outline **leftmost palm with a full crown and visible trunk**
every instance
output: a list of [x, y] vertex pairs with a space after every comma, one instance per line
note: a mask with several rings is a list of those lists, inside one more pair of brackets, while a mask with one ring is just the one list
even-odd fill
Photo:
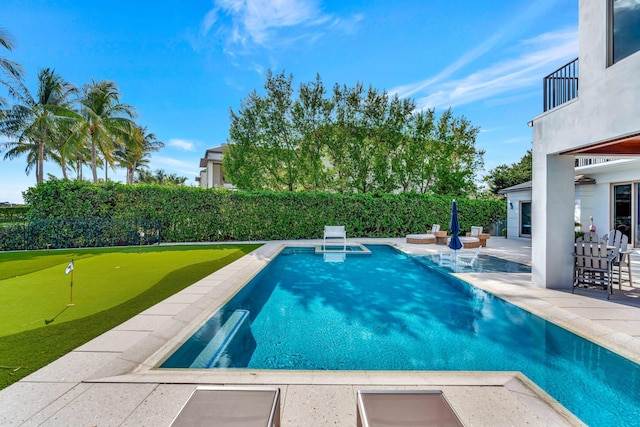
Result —
[[70, 96], [75, 87], [55, 71], [46, 68], [38, 74], [38, 91], [33, 96], [21, 80], [16, 79], [9, 89], [16, 103], [0, 117], [0, 133], [9, 136], [3, 144], [4, 159], [27, 154], [27, 174], [34, 166], [36, 182], [44, 180], [45, 159], [55, 160], [51, 141], [56, 137], [57, 125], [74, 121], [78, 114], [71, 110]]

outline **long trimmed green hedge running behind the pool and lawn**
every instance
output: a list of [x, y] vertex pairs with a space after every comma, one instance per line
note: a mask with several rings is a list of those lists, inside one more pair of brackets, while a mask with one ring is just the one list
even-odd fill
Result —
[[[398, 237], [447, 228], [451, 198], [415, 193], [240, 192], [193, 187], [50, 180], [25, 193], [29, 220], [160, 220], [163, 242], [322, 237], [324, 225], [349, 237]], [[488, 229], [506, 218], [499, 200], [458, 199], [460, 226]]]

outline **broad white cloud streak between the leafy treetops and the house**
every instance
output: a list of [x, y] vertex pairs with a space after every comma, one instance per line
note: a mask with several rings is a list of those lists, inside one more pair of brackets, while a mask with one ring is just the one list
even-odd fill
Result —
[[524, 40], [521, 45], [519, 51], [524, 53], [520, 56], [504, 59], [467, 76], [442, 81], [442, 76], [449, 74], [449, 68], [465, 61], [461, 59], [434, 78], [394, 91], [404, 96], [417, 94], [417, 106], [423, 109], [448, 108], [530, 89], [558, 65], [577, 56], [577, 28], [541, 34]]

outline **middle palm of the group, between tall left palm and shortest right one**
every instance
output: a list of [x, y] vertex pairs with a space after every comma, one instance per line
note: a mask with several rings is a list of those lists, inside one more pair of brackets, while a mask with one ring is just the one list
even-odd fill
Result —
[[83, 120], [79, 134], [90, 141], [91, 172], [93, 182], [98, 182], [98, 151], [105, 169], [114, 164], [114, 141], [131, 131], [135, 110], [120, 102], [118, 88], [107, 80], [85, 85], [80, 105]]

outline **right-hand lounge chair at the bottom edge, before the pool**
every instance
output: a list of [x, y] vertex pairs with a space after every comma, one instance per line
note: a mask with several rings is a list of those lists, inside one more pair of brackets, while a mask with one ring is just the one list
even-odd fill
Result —
[[358, 390], [357, 426], [463, 424], [441, 390]]

